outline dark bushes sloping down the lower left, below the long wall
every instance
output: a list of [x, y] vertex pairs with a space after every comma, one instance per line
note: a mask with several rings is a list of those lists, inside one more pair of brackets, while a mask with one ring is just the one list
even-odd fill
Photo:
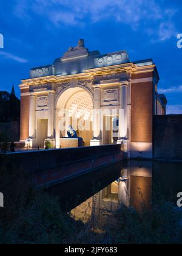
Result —
[[0, 211], [0, 244], [54, 244], [68, 240], [67, 236], [73, 235], [73, 219], [62, 213], [58, 199], [34, 188], [29, 175], [16, 163], [8, 162], [5, 155], [1, 160], [4, 208]]

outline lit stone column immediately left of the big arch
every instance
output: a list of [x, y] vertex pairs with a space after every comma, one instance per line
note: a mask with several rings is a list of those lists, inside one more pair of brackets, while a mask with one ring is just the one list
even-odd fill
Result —
[[55, 112], [55, 94], [49, 93], [49, 113], [48, 113], [48, 131], [47, 137], [54, 138], [54, 112]]

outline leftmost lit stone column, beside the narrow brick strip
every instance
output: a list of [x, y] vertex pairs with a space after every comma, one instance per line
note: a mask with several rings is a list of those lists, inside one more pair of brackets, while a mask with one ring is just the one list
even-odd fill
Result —
[[36, 96], [30, 95], [30, 118], [29, 118], [29, 138], [35, 138], [35, 111], [36, 111]]

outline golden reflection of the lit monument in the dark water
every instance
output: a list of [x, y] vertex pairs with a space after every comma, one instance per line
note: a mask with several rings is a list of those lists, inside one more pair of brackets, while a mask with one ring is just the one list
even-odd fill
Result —
[[72, 210], [76, 220], [89, 221], [94, 216], [100, 224], [107, 221], [110, 212], [120, 204], [140, 211], [152, 203], [152, 162], [131, 161], [121, 170], [121, 177]]

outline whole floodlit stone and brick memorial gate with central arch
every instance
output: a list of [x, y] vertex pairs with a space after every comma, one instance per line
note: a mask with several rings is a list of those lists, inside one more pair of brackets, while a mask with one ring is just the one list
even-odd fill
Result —
[[[53, 65], [33, 68], [22, 80], [21, 140], [35, 147], [48, 139], [59, 148], [71, 123], [86, 146], [122, 143], [129, 157], [152, 157], [153, 115], [166, 110], [158, 80], [153, 60], [130, 62], [126, 51], [101, 55], [79, 40]], [[64, 129], [63, 109], [70, 117]], [[90, 129], [79, 127], [83, 113], [82, 126]]]

